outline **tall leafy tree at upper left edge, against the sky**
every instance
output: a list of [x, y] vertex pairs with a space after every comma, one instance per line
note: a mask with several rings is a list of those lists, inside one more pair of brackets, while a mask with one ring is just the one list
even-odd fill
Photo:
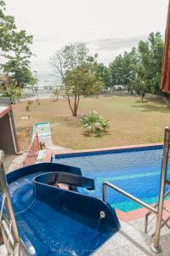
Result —
[[3, 73], [9, 76], [14, 86], [26, 86], [36, 84], [30, 69], [30, 46], [32, 36], [25, 30], [17, 31], [14, 17], [5, 14], [5, 3], [0, 1], [0, 49], [5, 63], [0, 64]]

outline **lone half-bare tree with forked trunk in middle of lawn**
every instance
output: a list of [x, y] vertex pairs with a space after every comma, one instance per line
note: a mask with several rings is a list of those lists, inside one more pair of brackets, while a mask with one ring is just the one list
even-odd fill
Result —
[[98, 94], [104, 86], [95, 73], [96, 58], [97, 55], [88, 55], [88, 48], [84, 44], [70, 44], [58, 50], [50, 59], [54, 73], [62, 79], [73, 116], [77, 116], [81, 96]]

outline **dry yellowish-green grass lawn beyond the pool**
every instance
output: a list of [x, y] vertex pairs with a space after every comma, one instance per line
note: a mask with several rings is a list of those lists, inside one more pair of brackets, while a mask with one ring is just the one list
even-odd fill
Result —
[[[85, 137], [81, 118], [90, 110], [96, 110], [110, 119], [110, 129], [103, 137]], [[20, 119], [24, 116], [30, 119]], [[54, 102], [42, 100], [31, 105], [26, 112], [26, 102], [14, 106], [14, 119], [18, 131], [31, 128], [36, 122], [50, 122], [54, 144], [65, 148], [104, 148], [130, 144], [160, 143], [163, 129], [170, 125], [170, 109], [161, 98], [137, 96], [99, 96], [81, 99], [78, 117], [71, 117], [65, 99]]]

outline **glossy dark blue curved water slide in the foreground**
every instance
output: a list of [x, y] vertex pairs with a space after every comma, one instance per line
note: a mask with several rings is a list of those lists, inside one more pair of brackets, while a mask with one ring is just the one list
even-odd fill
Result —
[[7, 180], [19, 234], [31, 255], [91, 255], [119, 230], [114, 209], [78, 192], [94, 189], [94, 180], [77, 167], [42, 163], [10, 172]]

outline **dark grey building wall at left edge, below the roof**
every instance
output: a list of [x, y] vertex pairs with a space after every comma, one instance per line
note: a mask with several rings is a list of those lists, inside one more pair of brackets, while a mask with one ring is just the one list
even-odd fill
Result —
[[14, 154], [14, 143], [8, 114], [0, 119], [0, 149], [3, 149], [5, 154]]

